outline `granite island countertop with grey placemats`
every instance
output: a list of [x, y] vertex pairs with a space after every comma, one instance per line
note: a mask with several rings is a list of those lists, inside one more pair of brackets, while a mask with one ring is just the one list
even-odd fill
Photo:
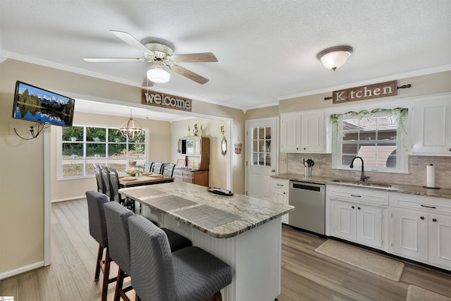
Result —
[[216, 195], [204, 186], [183, 182], [123, 188], [119, 192], [215, 238], [236, 236], [295, 208], [237, 193]]

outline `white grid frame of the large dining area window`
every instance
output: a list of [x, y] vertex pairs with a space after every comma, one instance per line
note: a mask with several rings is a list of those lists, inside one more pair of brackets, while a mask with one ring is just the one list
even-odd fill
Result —
[[[108, 134], [109, 130], [118, 130], [119, 128], [117, 126], [109, 126], [109, 125], [87, 125], [87, 124], [74, 124], [73, 127], [82, 127], [83, 128], [83, 141], [78, 141], [78, 143], [83, 144], [83, 158], [78, 159], [80, 162], [82, 161], [84, 164], [83, 168], [83, 175], [82, 176], [70, 176], [70, 177], [64, 177], [63, 176], [63, 127], [57, 127], [56, 128], [56, 180], [76, 180], [76, 179], [82, 179], [82, 178], [94, 178], [95, 174], [87, 175], [86, 174], [86, 166], [87, 164], [90, 164], [89, 159], [86, 157], [86, 147], [87, 144], [92, 143], [91, 141], [86, 140], [86, 130], [87, 128], [105, 128], [106, 129], [106, 138], [105, 138], [105, 145], [106, 145], [106, 154], [105, 154], [105, 164], [108, 166], [109, 160], [113, 161], [114, 159], [110, 156], [108, 156], [108, 145], [109, 143], [117, 143], [117, 142], [109, 142], [108, 141]], [[149, 141], [149, 129], [148, 128], [142, 128], [142, 130], [145, 131], [144, 135], [144, 161], [149, 158], [149, 147], [148, 147], [148, 141]], [[125, 142], [126, 149], [127, 149], [127, 155], [125, 156], [125, 161], [128, 162], [129, 159], [134, 159], [135, 157], [129, 157], [128, 156], [128, 149], [129, 145], [134, 145], [136, 142], [130, 142], [126, 140]], [[142, 142], [140, 142], [141, 144]]]

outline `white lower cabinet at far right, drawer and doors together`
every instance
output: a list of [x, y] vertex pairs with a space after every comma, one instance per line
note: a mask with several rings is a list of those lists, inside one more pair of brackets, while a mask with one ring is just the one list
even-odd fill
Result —
[[393, 254], [451, 268], [451, 201], [394, 195]]

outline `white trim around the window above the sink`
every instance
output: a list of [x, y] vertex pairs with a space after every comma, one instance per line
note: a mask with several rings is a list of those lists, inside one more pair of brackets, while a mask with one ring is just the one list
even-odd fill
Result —
[[[409, 110], [410, 113], [410, 110]], [[340, 117], [341, 124], [342, 117]], [[407, 119], [404, 121], [404, 130], [409, 122], [409, 115], [407, 115]], [[377, 168], [377, 167], [369, 167], [366, 166], [365, 171], [378, 172], [378, 173], [409, 173], [409, 149], [407, 147], [408, 139], [407, 134], [404, 133], [404, 130], [397, 130], [397, 142], [396, 142], [396, 168]], [[337, 129], [332, 130], [332, 168], [341, 169], [347, 171], [354, 171], [355, 168], [350, 168], [348, 165], [342, 165], [341, 162], [341, 140], [338, 137], [342, 136], [342, 127], [338, 127]]]

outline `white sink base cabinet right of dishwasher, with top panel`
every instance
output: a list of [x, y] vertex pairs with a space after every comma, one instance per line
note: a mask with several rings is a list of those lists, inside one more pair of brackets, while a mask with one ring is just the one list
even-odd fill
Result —
[[326, 185], [326, 199], [326, 235], [385, 250], [383, 235], [387, 226], [383, 223], [383, 214], [388, 207], [386, 192]]

